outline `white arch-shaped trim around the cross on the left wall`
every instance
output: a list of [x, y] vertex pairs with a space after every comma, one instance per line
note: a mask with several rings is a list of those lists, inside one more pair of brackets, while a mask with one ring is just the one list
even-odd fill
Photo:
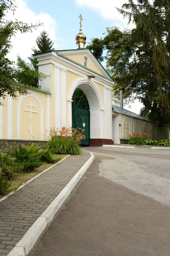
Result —
[[23, 99], [25, 99], [26, 97], [32, 97], [34, 99], [37, 100], [39, 106], [40, 106], [40, 129], [41, 129], [41, 140], [44, 139], [44, 134], [43, 134], [43, 117], [44, 117], [44, 111], [43, 111], [43, 106], [42, 103], [40, 101], [40, 99], [37, 97], [37, 95], [35, 95], [34, 93], [28, 93], [27, 95], [23, 95], [20, 97], [19, 101], [18, 101], [18, 105], [17, 105], [17, 140], [20, 140], [20, 108], [21, 108], [21, 103], [23, 102]]

